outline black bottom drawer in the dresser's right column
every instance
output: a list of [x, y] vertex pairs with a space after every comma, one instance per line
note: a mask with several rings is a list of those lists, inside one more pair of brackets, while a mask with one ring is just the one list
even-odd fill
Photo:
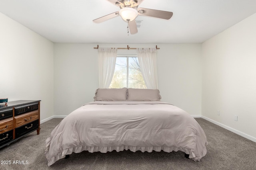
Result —
[[15, 129], [15, 138], [21, 137], [38, 129], [38, 119]]

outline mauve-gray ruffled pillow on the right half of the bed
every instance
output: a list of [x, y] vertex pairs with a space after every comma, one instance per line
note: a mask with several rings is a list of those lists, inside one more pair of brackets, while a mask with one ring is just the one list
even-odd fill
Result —
[[160, 101], [158, 89], [128, 88], [128, 99], [133, 101]]

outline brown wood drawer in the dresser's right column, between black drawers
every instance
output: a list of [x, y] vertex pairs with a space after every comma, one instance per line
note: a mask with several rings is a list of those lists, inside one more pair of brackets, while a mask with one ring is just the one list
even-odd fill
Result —
[[38, 110], [31, 111], [29, 113], [25, 113], [23, 115], [19, 115], [14, 117], [15, 121], [15, 127], [20, 127], [22, 125], [25, 125], [27, 123], [30, 123], [36, 119], [38, 119]]

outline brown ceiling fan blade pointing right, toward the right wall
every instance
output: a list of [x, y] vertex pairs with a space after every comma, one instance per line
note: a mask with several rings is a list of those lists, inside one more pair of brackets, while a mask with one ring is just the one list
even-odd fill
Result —
[[162, 18], [164, 20], [169, 20], [173, 13], [168, 11], [152, 10], [148, 8], [139, 8], [138, 14], [141, 16], [150, 16], [154, 18]]

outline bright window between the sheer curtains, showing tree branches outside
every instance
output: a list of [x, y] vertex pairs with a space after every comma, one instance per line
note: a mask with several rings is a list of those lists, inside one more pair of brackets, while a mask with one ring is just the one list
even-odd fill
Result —
[[109, 88], [146, 88], [138, 57], [118, 56]]

